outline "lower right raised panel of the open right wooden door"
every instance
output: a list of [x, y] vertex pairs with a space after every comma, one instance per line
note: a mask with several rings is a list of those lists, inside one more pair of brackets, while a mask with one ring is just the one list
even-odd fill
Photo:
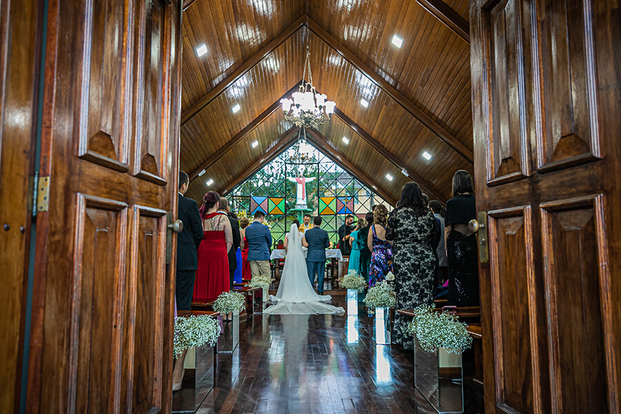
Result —
[[[553, 413], [618, 405], [604, 195], [540, 205]], [[587, 358], [584, 355], [588, 355]]]

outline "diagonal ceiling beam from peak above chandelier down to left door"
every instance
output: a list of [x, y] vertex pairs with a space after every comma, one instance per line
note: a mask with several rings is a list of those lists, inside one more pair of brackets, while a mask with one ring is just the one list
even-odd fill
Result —
[[235, 69], [233, 73], [228, 75], [224, 81], [218, 83], [214, 88], [210, 89], [205, 95], [199, 98], [198, 101], [190, 105], [184, 112], [181, 112], [181, 125], [185, 124], [191, 117], [196, 115], [201, 109], [208, 106], [208, 104], [216, 99], [222, 92], [224, 92], [229, 86], [233, 85], [240, 77], [244, 76], [248, 70], [257, 65], [260, 61], [265, 59], [271, 52], [273, 52], [278, 46], [286, 41], [293, 33], [297, 32], [299, 28], [306, 23], [306, 14], [302, 14], [296, 21], [291, 23], [288, 28], [280, 32], [274, 39], [270, 40], [265, 46], [263, 46], [258, 52], [249, 57], [242, 66]]

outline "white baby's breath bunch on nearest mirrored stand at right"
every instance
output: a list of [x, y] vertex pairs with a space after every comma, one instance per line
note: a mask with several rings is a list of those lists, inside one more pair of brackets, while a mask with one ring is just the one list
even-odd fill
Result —
[[438, 312], [433, 306], [418, 306], [414, 319], [403, 329], [407, 335], [416, 335], [420, 347], [426, 352], [443, 348], [449, 353], [460, 354], [472, 346], [468, 326], [457, 315]]

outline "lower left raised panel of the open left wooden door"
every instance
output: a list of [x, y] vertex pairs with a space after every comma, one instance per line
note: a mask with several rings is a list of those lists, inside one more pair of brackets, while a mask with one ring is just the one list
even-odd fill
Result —
[[68, 411], [118, 412], [127, 208], [78, 194], [68, 354]]

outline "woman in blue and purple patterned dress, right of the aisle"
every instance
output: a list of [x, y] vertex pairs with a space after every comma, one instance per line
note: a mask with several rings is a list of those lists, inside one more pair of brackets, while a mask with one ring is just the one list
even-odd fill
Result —
[[393, 271], [393, 242], [386, 240], [388, 210], [384, 204], [375, 207], [373, 226], [366, 237], [366, 244], [371, 250], [368, 285], [375, 286]]

